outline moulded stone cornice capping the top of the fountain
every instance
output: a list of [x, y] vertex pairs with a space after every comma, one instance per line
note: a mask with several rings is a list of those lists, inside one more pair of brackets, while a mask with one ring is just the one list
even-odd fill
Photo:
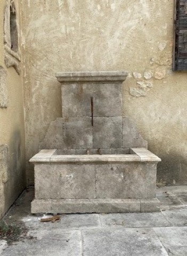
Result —
[[61, 84], [122, 83], [125, 81], [127, 76], [127, 71], [77, 71], [55, 73], [55, 77]]

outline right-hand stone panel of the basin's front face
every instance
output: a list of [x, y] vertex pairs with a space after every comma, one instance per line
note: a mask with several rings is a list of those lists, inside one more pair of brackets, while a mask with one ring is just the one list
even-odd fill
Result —
[[153, 198], [156, 193], [156, 165], [97, 165], [97, 198]]

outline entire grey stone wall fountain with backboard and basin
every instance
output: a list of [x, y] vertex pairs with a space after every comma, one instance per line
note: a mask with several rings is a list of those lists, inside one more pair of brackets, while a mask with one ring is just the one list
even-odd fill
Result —
[[122, 116], [126, 72], [57, 73], [62, 118], [48, 127], [35, 170], [32, 213], [159, 211], [157, 163]]

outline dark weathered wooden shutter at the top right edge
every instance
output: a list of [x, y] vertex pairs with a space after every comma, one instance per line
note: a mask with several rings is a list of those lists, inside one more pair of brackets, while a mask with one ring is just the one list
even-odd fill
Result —
[[176, 0], [173, 70], [187, 70], [187, 0]]

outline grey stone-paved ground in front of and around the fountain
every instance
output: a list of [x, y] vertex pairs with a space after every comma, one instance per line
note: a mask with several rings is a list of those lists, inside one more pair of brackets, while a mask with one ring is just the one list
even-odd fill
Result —
[[32, 197], [29, 188], [5, 216], [25, 223], [28, 238], [0, 241], [0, 255], [187, 256], [187, 186], [159, 188], [158, 213], [68, 214], [56, 223], [30, 214]]

